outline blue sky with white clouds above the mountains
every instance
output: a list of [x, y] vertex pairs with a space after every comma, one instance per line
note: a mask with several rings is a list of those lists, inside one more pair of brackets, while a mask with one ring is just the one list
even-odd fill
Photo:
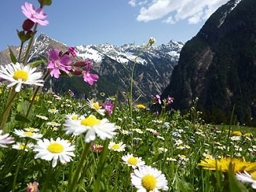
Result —
[[[19, 46], [16, 29], [26, 19], [21, 5], [36, 0], [1, 2], [0, 50], [8, 45]], [[206, 19], [227, 0], [53, 0], [46, 6], [48, 26], [39, 26], [46, 33], [68, 46], [82, 44], [125, 43], [140, 45], [154, 37], [157, 44], [171, 39], [185, 43], [202, 27]]]

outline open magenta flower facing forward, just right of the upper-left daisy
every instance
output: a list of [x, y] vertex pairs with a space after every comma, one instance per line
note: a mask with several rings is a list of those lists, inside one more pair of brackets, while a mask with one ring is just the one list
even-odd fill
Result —
[[61, 71], [64, 71], [66, 74], [69, 73], [69, 70], [72, 67], [69, 65], [71, 63], [71, 59], [67, 54], [61, 56], [60, 50], [52, 49], [47, 52], [50, 60], [47, 63], [47, 69], [50, 69], [50, 76], [58, 78], [60, 77]]

